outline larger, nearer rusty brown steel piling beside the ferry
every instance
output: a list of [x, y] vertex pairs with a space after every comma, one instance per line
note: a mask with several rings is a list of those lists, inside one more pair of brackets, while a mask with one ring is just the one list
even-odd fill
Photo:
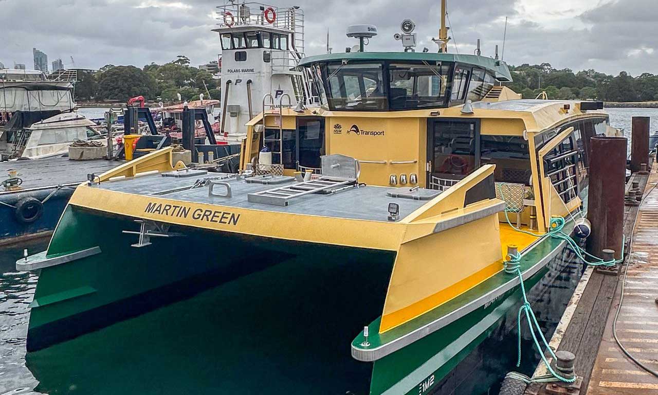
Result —
[[[618, 251], [616, 259], [620, 259], [624, 238], [628, 140], [620, 137], [593, 137], [590, 142], [592, 155], [587, 217], [592, 223], [592, 235], [587, 240], [587, 250], [600, 257], [603, 249], [611, 248]], [[635, 201], [634, 194], [632, 197]]]

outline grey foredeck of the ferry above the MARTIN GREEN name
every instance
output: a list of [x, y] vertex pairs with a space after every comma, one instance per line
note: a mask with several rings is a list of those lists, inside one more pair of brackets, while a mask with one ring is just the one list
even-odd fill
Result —
[[[212, 178], [220, 175], [221, 173], [208, 173], [199, 177], [174, 178], [153, 174], [130, 180], [103, 182], [93, 188], [148, 196], [175, 188], [190, 187], [195, 183], [197, 178]], [[225, 207], [320, 215], [324, 217], [364, 219], [368, 221], [388, 221], [388, 203], [394, 202], [399, 204], [400, 218], [406, 217], [415, 209], [427, 203], [427, 201], [386, 196], [386, 192], [397, 188], [362, 186], [361, 188], [351, 188], [332, 195], [308, 194], [291, 199], [288, 207], [282, 207], [265, 203], [251, 203], [247, 201], [247, 194], [290, 185], [293, 182], [278, 185], [248, 184], [244, 180], [238, 181], [235, 179], [222, 180], [222, 182], [228, 182], [231, 185], [232, 198], [208, 196], [208, 187], [172, 192], [164, 195], [158, 194], [153, 197], [195, 203], [209, 203]], [[224, 190], [225, 188], [222, 186], [215, 187], [215, 193], [223, 193]]]

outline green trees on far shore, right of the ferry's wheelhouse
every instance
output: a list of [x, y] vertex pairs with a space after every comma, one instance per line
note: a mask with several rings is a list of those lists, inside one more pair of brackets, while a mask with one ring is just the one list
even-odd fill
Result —
[[511, 66], [513, 82], [505, 84], [524, 99], [546, 92], [549, 99], [600, 101], [658, 100], [658, 76], [645, 72], [633, 77], [622, 71], [611, 76], [596, 70], [574, 73], [570, 68], [557, 70], [550, 63]]

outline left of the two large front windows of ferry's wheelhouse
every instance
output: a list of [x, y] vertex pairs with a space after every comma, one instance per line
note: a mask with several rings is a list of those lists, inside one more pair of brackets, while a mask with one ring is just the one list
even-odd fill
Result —
[[332, 110], [378, 111], [388, 109], [386, 84], [379, 63], [328, 65]]

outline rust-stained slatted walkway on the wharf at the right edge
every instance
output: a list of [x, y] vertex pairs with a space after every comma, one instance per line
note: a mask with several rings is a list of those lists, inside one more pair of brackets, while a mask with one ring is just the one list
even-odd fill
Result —
[[[647, 367], [658, 369], [658, 166], [654, 166], [645, 188], [633, 234], [628, 261], [624, 302], [617, 321], [617, 337], [626, 350]], [[616, 279], [616, 277], [613, 277]], [[613, 338], [613, 319], [619, 305], [623, 276], [619, 276], [615, 300], [607, 316], [603, 340], [598, 348], [588, 395], [658, 395], [658, 378], [635, 365]], [[594, 347], [594, 349], [596, 349]], [[583, 392], [583, 390], [581, 390]]]

